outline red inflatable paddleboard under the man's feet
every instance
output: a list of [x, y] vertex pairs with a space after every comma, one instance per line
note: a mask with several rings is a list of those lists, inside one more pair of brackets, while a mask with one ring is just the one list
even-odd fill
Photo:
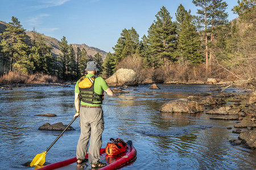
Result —
[[[105, 153], [105, 148], [101, 148], [100, 150], [100, 162], [106, 163], [106, 167], [102, 167], [100, 169], [117, 169], [120, 168], [126, 164], [129, 164], [130, 162], [133, 162], [137, 158], [137, 151], [133, 146], [133, 142], [127, 141], [127, 148], [126, 152], [123, 152], [122, 154], [119, 154], [117, 156], [109, 156]], [[88, 154], [86, 154], [85, 158], [88, 158]], [[46, 165], [42, 168], [39, 168], [39, 170], [49, 170], [49, 169], [77, 169], [77, 159], [76, 157], [63, 160], [61, 162], [52, 163], [49, 165]], [[80, 165], [81, 166], [81, 165]], [[92, 168], [89, 163], [82, 164], [82, 169], [96, 169]], [[99, 168], [97, 168], [99, 169]]]

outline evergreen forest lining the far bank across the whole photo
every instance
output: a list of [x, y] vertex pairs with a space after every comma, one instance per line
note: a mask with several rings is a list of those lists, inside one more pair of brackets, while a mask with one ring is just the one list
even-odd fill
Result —
[[132, 28], [121, 31], [113, 53], [88, 56], [85, 49], [74, 49], [65, 36], [61, 53], [37, 33], [26, 30], [14, 16], [0, 34], [0, 60], [4, 74], [46, 74], [73, 81], [84, 75], [88, 61], [96, 61], [101, 76], [108, 78], [120, 68], [133, 69], [139, 82], [172, 83], [216, 78], [225, 81], [256, 78], [256, 7], [254, 0], [238, 0], [232, 11], [238, 18], [228, 21], [227, 4], [222, 0], [192, 0], [197, 15], [183, 5], [171, 16], [167, 7], [159, 9], [147, 35]]

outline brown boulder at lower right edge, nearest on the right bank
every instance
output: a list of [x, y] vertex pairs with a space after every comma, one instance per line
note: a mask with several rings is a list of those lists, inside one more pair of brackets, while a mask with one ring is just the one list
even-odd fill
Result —
[[243, 131], [238, 139], [241, 139], [242, 143], [245, 143], [252, 150], [256, 149], [256, 129]]

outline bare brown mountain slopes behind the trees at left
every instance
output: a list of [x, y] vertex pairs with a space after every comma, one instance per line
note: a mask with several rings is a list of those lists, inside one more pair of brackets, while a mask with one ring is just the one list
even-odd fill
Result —
[[[6, 24], [7, 23], [2, 22], [0, 20], [0, 33], [5, 31]], [[28, 37], [32, 37], [32, 32], [31, 31], [26, 31], [26, 34], [27, 34]], [[60, 41], [53, 38], [53, 37], [49, 37], [49, 36], [43, 35], [41, 33], [39, 33], [39, 34], [43, 36], [47, 45], [52, 46], [51, 51], [52, 51], [53, 55], [54, 56], [59, 56], [59, 54], [61, 53], [60, 49], [59, 49]], [[73, 46], [75, 52], [77, 51], [77, 47], [79, 47], [80, 49], [84, 48], [86, 50], [88, 56], [94, 56], [95, 54], [100, 53], [103, 60], [106, 58], [106, 55], [108, 54], [104, 50], [95, 48], [93, 46], [88, 46], [86, 44], [72, 44], [72, 46]]]

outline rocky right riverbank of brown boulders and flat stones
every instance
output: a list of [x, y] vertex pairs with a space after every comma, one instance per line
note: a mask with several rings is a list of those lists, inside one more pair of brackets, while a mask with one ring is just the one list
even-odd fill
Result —
[[199, 94], [169, 101], [159, 109], [160, 112], [188, 114], [203, 110], [206, 114], [214, 115], [210, 117], [212, 120], [236, 121], [233, 127], [227, 127], [235, 129], [232, 133], [240, 134], [238, 139], [230, 139], [232, 145], [256, 149], [256, 92], [240, 95], [225, 92], [218, 95]]

